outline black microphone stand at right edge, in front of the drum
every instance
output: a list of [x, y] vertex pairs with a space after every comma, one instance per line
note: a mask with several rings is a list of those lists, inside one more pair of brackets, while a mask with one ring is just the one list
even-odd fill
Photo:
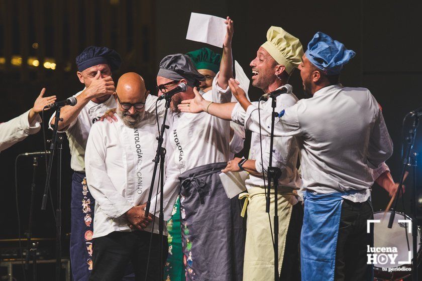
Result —
[[[407, 139], [407, 150], [406, 150], [406, 157], [403, 159], [403, 168], [401, 170], [400, 175], [400, 183], [398, 185], [398, 189], [396, 191], [396, 197], [394, 199], [394, 208], [391, 211], [390, 219], [388, 221], [388, 228], [391, 228], [393, 226], [394, 222], [394, 216], [397, 208], [397, 202], [400, 195], [402, 195], [402, 185], [404, 180], [404, 174], [407, 171], [407, 169], [412, 166], [413, 167], [413, 190], [412, 190], [412, 196], [411, 196], [411, 209], [413, 211], [412, 217], [411, 217], [411, 223], [412, 223], [412, 270], [411, 270], [411, 276], [412, 281], [417, 281], [417, 208], [416, 208], [416, 153], [411, 153], [414, 146], [414, 141], [416, 138], [416, 131], [417, 127], [419, 125], [419, 114], [418, 112], [413, 113], [410, 112], [409, 114], [413, 115], [413, 123], [411, 126], [411, 129], [409, 130], [409, 136]], [[408, 114], [408, 115], [409, 115]], [[406, 115], [404, 118], [406, 118], [408, 115]], [[403, 196], [403, 195], [402, 195]], [[406, 232], [407, 235], [407, 232]]]

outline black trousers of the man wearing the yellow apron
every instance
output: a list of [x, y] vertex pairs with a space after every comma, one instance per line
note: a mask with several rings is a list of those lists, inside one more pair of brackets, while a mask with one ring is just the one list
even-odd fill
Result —
[[283, 264], [281, 265], [280, 281], [300, 281], [300, 231], [303, 222], [303, 206], [298, 202], [293, 206], [287, 229], [286, 246], [284, 248]]

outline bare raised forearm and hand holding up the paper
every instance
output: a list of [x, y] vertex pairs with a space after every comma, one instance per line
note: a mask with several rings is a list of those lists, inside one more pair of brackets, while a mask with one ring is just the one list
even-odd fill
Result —
[[233, 78], [233, 56], [232, 56], [232, 38], [233, 38], [233, 21], [227, 17], [226, 37], [223, 43], [223, 57], [220, 63], [220, 75], [218, 77], [218, 85], [226, 89], [229, 85], [229, 79]]

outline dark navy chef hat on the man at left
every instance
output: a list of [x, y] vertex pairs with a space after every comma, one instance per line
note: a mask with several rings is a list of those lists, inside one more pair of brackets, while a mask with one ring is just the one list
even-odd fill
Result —
[[79, 71], [98, 64], [108, 64], [112, 71], [116, 71], [122, 64], [122, 59], [115, 50], [97, 46], [89, 46], [76, 57], [76, 65]]

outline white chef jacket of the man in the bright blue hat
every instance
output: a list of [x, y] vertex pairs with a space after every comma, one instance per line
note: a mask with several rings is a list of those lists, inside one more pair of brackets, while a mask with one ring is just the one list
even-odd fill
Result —
[[[258, 132], [258, 110], [246, 110], [246, 128]], [[262, 132], [270, 134], [271, 113], [261, 111]], [[342, 196], [366, 201], [373, 184], [372, 169], [393, 150], [378, 102], [366, 88], [331, 85], [286, 108], [276, 118], [275, 135], [297, 136], [302, 186], [316, 194], [352, 192]], [[357, 192], [357, 193], [355, 193]]]

